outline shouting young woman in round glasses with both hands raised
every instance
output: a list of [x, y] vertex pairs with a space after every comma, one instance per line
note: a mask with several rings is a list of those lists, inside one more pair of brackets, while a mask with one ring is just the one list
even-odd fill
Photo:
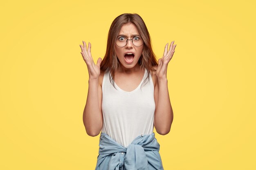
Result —
[[153, 129], [166, 135], [173, 122], [166, 77], [173, 43], [157, 63], [146, 24], [124, 13], [110, 26], [103, 60], [94, 64], [90, 42], [80, 45], [89, 72], [83, 123], [88, 135], [101, 132], [95, 170], [163, 170]]

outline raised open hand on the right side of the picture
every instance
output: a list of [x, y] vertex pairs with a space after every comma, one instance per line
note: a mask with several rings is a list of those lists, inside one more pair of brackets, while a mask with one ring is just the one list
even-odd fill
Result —
[[168, 43], [165, 45], [164, 48], [164, 55], [162, 58], [160, 58], [158, 60], [158, 66], [157, 66], [157, 71], [156, 71], [156, 75], [158, 77], [158, 79], [162, 79], [162, 78], [167, 78], [166, 73], [167, 73], [167, 66], [168, 63], [170, 62], [171, 58], [173, 57], [173, 53], [175, 52], [175, 47], [177, 44], [173, 45], [174, 41], [171, 42], [169, 51], [168, 50]]

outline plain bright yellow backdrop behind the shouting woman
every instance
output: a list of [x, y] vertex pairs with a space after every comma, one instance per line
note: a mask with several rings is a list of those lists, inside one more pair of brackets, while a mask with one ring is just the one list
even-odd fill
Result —
[[88, 70], [122, 13], [138, 13], [168, 64], [174, 119], [156, 133], [165, 170], [256, 169], [253, 0], [1, 1], [0, 169], [94, 170], [99, 135], [83, 125]]

